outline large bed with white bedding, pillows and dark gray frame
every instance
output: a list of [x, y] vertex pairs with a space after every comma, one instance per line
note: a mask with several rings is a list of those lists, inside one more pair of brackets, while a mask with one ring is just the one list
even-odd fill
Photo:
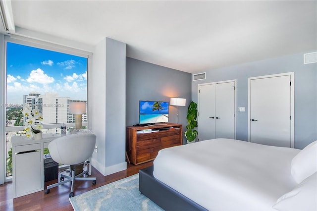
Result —
[[140, 171], [140, 191], [164, 210], [317, 210], [316, 153], [317, 141], [304, 150], [233, 139], [166, 148], [153, 172]]

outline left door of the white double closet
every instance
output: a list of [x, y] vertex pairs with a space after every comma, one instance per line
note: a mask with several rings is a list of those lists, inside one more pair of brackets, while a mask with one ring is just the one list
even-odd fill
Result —
[[198, 99], [198, 137], [199, 141], [214, 139], [215, 105], [214, 105], [215, 84], [202, 85], [199, 87]]

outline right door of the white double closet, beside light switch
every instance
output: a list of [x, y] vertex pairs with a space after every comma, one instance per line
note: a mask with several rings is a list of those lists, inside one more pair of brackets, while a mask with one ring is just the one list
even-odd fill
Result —
[[234, 89], [234, 82], [215, 85], [215, 138], [235, 138]]

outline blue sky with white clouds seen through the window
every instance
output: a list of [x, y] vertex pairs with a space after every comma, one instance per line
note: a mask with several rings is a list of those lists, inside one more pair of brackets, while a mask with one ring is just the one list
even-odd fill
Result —
[[87, 100], [87, 58], [7, 43], [6, 59], [7, 104], [30, 92]]

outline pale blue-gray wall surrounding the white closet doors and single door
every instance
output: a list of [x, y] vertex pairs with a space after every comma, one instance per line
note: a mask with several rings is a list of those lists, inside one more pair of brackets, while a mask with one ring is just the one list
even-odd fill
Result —
[[317, 65], [303, 64], [303, 53], [255, 61], [207, 71], [207, 79], [192, 83], [192, 99], [197, 102], [198, 84], [237, 79], [237, 139], [248, 140], [248, 77], [294, 72], [295, 148], [303, 149], [317, 140]]

